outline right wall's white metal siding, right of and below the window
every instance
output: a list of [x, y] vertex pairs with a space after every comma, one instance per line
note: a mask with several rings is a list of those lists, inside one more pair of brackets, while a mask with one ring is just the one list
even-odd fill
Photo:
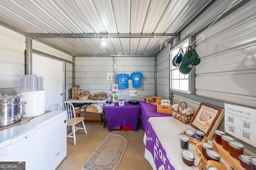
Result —
[[[255, 9], [254, 1], [246, 3], [212, 25], [204, 33], [207, 37], [205, 43], [202, 37], [196, 41], [196, 51], [201, 57], [201, 63], [195, 70], [196, 95], [255, 108]], [[195, 24], [198, 23], [191, 25]], [[190, 25], [186, 32], [192, 32]], [[186, 101], [192, 108], [197, 108], [200, 104], [198, 101], [186, 100], [177, 95], [174, 95], [173, 99], [175, 103]], [[224, 119], [218, 129], [224, 131]], [[255, 147], [246, 143], [244, 145], [245, 152], [255, 155]]]

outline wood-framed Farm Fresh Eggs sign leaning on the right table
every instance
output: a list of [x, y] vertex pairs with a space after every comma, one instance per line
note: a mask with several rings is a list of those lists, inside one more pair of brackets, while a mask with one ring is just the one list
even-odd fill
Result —
[[189, 124], [194, 129], [204, 132], [205, 137], [211, 140], [223, 117], [223, 108], [201, 103]]

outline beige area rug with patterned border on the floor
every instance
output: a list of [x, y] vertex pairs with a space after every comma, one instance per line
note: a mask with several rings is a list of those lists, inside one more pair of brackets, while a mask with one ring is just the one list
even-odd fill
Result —
[[121, 135], [109, 134], [82, 166], [82, 170], [114, 170], [127, 146]]

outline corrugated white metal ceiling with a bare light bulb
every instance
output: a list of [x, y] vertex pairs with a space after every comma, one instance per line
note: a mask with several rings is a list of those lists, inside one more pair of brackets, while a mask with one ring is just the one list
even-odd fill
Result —
[[[154, 34], [170, 41], [212, 2], [1, 0], [0, 24], [69, 55], [155, 55], [160, 40]], [[106, 46], [101, 45], [102, 35]]]

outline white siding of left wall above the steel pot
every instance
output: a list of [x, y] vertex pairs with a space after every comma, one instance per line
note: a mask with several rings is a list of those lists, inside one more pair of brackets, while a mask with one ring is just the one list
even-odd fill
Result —
[[0, 93], [20, 93], [20, 75], [25, 73], [25, 37], [0, 26]]

